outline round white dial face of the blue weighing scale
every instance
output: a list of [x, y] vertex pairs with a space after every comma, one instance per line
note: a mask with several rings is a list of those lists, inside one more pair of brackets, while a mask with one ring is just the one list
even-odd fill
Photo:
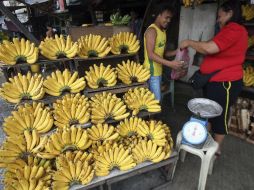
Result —
[[206, 127], [196, 121], [185, 123], [182, 132], [184, 139], [191, 144], [201, 144], [207, 137]]

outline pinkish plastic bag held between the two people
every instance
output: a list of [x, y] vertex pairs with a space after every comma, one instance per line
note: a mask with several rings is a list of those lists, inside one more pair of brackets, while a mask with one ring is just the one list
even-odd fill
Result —
[[187, 48], [185, 49], [178, 49], [176, 52], [176, 61], [182, 61], [183, 67], [179, 70], [172, 70], [171, 71], [171, 79], [177, 80], [179, 78], [182, 78], [187, 75], [188, 73], [188, 68], [189, 68], [189, 62], [190, 62], [190, 57], [189, 57], [189, 51]]

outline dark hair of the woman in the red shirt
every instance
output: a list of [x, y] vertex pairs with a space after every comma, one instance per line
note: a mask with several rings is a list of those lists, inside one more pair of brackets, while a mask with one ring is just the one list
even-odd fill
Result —
[[241, 12], [241, 5], [239, 3], [239, 1], [234, 1], [234, 0], [230, 0], [230, 1], [226, 1], [225, 3], [223, 3], [220, 6], [221, 10], [224, 12], [229, 12], [232, 11], [233, 15], [231, 17], [231, 19], [227, 22], [236, 22], [241, 24], [242, 21], [242, 12]]

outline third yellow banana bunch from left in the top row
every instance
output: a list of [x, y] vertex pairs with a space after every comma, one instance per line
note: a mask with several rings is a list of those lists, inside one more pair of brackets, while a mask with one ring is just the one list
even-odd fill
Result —
[[100, 35], [89, 34], [78, 39], [79, 57], [105, 57], [111, 50], [108, 40]]

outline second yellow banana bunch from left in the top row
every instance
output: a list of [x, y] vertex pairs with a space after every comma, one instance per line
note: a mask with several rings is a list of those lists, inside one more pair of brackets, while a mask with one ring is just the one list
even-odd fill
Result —
[[39, 46], [41, 54], [50, 59], [56, 60], [61, 57], [73, 58], [78, 53], [78, 43], [73, 42], [68, 35], [55, 35], [55, 38], [46, 38]]

